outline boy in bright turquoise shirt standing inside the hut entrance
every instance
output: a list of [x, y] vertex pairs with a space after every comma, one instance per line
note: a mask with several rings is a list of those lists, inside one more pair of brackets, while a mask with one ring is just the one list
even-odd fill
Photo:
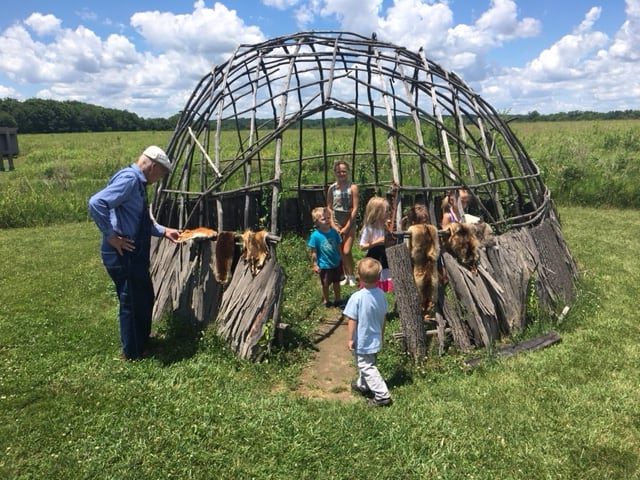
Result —
[[[332, 307], [340, 303], [340, 278], [342, 263], [340, 260], [340, 234], [329, 223], [325, 207], [314, 208], [311, 217], [316, 228], [311, 233], [307, 246], [311, 249], [313, 271], [320, 276], [322, 285], [322, 303]], [[334, 302], [329, 301], [329, 285], [333, 285]]]

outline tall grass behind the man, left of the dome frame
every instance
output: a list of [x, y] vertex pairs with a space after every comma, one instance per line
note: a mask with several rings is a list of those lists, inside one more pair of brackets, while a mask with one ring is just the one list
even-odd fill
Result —
[[88, 218], [87, 200], [144, 146], [166, 145], [170, 132], [19, 135], [15, 170], [0, 172], [0, 228]]

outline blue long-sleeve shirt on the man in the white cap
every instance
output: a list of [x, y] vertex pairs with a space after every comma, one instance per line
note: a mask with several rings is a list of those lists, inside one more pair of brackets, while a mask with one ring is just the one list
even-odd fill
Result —
[[[107, 186], [89, 199], [89, 215], [105, 238], [113, 234], [134, 239], [147, 208], [147, 179], [135, 163], [116, 173]], [[165, 228], [154, 223], [151, 235], [162, 237]]]

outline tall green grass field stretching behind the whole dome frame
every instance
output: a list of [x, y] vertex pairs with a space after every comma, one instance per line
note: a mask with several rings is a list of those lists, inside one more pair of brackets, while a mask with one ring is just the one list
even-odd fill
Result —
[[[539, 165], [556, 200], [640, 208], [640, 121], [516, 122], [512, 127]], [[234, 135], [222, 132], [223, 158], [237, 153], [224, 150], [237, 144]], [[300, 154], [296, 135], [285, 134], [285, 158], [296, 159]], [[328, 149], [350, 151], [352, 135], [350, 128], [331, 131]], [[16, 169], [0, 172], [0, 228], [86, 220], [86, 202], [93, 192], [118, 169], [132, 163], [146, 145], [164, 146], [170, 137], [171, 132], [20, 135]], [[304, 155], [320, 155], [321, 131], [306, 131], [304, 138]], [[378, 139], [379, 151], [384, 151], [385, 140], [384, 136]], [[364, 129], [358, 133], [358, 142], [370, 142]], [[265, 155], [272, 148], [267, 148]], [[380, 178], [390, 178], [389, 168], [381, 166]], [[297, 182], [295, 171], [293, 165], [284, 168], [283, 184], [288, 188]], [[417, 166], [415, 175], [405, 181], [417, 182]], [[324, 167], [320, 161], [311, 163], [301, 177], [303, 183], [322, 183]], [[354, 178], [359, 182], [374, 180], [373, 167], [366, 159], [359, 159]]]

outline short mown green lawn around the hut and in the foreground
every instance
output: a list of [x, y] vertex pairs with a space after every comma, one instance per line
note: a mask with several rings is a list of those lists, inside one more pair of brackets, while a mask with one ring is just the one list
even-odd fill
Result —
[[95, 227], [0, 230], [0, 478], [638, 479], [640, 212], [561, 214], [585, 277], [562, 343], [466, 372], [388, 338], [379, 410], [295, 395], [319, 298], [301, 239], [279, 247], [294, 348], [250, 364], [168, 319], [164, 354], [123, 363]]

